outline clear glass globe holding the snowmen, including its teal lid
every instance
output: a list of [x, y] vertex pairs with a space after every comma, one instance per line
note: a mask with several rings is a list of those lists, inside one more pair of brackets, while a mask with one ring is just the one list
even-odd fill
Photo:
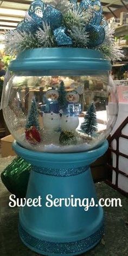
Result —
[[10, 65], [13, 74], [4, 86], [3, 114], [24, 148], [88, 151], [104, 142], [116, 122], [110, 63], [94, 50], [69, 50], [28, 50]]

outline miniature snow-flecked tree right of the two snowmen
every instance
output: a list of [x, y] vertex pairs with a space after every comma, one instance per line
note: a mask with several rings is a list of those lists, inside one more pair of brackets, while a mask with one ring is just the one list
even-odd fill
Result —
[[88, 136], [92, 136], [94, 132], [97, 132], [97, 116], [94, 103], [89, 105], [85, 120], [80, 127]]

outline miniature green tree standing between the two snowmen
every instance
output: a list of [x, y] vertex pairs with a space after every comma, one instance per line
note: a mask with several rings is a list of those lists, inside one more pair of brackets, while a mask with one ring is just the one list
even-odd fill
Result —
[[67, 99], [66, 99], [66, 90], [65, 90], [65, 84], [63, 83], [63, 81], [61, 81], [60, 83], [60, 87], [59, 87], [59, 98], [58, 98], [58, 103], [59, 103], [59, 109], [63, 110], [63, 112], [66, 111], [67, 108]]

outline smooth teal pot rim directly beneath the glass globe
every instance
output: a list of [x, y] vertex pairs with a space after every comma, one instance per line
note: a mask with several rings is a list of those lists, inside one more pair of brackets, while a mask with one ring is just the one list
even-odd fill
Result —
[[78, 168], [87, 166], [97, 160], [108, 149], [108, 141], [105, 140], [102, 145], [91, 151], [78, 153], [44, 153], [31, 151], [23, 148], [16, 141], [13, 146], [15, 152], [23, 157], [28, 163], [43, 168]]

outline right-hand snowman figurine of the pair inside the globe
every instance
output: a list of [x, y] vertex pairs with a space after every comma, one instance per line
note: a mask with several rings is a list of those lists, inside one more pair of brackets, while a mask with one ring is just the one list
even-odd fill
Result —
[[74, 130], [79, 126], [79, 114], [81, 104], [79, 103], [79, 93], [70, 91], [67, 93], [67, 113], [61, 117], [61, 130]]

